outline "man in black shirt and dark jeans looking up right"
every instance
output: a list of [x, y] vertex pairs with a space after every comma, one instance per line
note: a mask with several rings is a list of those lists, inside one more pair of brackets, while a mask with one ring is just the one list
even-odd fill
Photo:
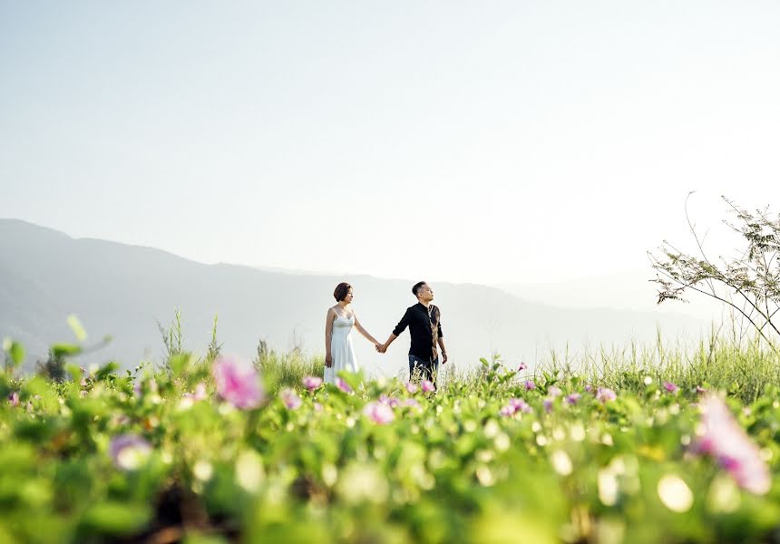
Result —
[[409, 347], [409, 375], [422, 376], [435, 384], [439, 369], [439, 349], [442, 350], [442, 364], [447, 362], [447, 349], [444, 347], [442, 333], [442, 313], [437, 306], [431, 304], [434, 300], [434, 289], [424, 281], [414, 284], [412, 293], [417, 297], [417, 304], [406, 309], [406, 313], [395, 325], [393, 334], [385, 344], [377, 345], [376, 351], [384, 354], [393, 344], [395, 338], [409, 327], [412, 345]]

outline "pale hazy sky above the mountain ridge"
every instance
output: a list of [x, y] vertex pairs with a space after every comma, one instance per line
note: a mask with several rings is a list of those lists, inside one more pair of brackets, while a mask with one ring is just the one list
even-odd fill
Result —
[[780, 210], [780, 3], [0, 0], [0, 217], [478, 283]]

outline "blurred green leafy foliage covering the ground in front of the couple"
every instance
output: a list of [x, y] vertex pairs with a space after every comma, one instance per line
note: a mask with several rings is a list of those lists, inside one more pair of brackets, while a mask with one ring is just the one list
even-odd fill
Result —
[[[736, 349], [690, 355], [692, 370], [668, 351], [658, 368], [602, 352], [580, 374], [493, 357], [440, 376], [437, 393], [350, 374], [354, 393], [308, 390], [320, 359], [266, 349], [268, 394], [249, 410], [186, 352], [159, 371], [70, 365], [62, 383], [2, 374], [0, 540], [770, 541], [780, 486], [741, 490], [695, 448], [696, 380], [723, 383], [758, 356], [776, 373], [773, 351]], [[776, 477], [773, 375], [747, 398], [737, 384], [728, 405]], [[609, 385], [614, 401], [595, 393]]]

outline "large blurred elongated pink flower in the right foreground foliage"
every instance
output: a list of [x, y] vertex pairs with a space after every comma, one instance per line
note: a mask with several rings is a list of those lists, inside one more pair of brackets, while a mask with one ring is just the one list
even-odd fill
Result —
[[702, 433], [695, 449], [716, 458], [741, 488], [756, 495], [769, 491], [772, 476], [761, 452], [726, 404], [716, 396], [708, 396], [702, 412]]

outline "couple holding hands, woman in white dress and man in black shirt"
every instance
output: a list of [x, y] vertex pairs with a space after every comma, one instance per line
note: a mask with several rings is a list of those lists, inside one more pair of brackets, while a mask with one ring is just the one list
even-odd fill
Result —
[[369, 335], [363, 325], [360, 325], [355, 316], [355, 311], [352, 309], [352, 286], [345, 282], [336, 286], [333, 292], [336, 306], [328, 308], [325, 321], [324, 379], [327, 384], [336, 384], [336, 373], [341, 370], [357, 372], [360, 368], [352, 346], [350, 333], [353, 327], [375, 345], [377, 352], [384, 354], [407, 326], [412, 336], [412, 345], [409, 348], [410, 378], [419, 376], [435, 384], [440, 348], [442, 364], [447, 362], [447, 351], [442, 334], [442, 313], [438, 306], [431, 304], [434, 300], [434, 290], [424, 281], [414, 284], [412, 293], [417, 297], [417, 304], [406, 308], [406, 313], [398, 325], [395, 325], [393, 333], [387, 338], [385, 344], [379, 344], [374, 336]]

